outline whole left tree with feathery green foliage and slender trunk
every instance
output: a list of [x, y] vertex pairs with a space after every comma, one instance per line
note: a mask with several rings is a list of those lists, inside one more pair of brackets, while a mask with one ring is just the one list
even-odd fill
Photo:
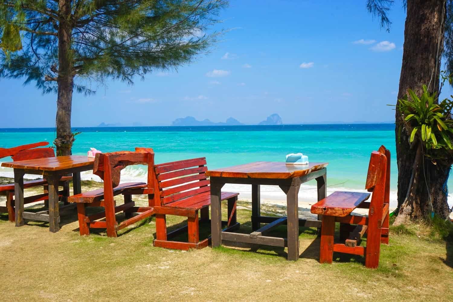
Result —
[[57, 93], [57, 154], [71, 154], [72, 92], [92, 81], [132, 84], [206, 52], [227, 0], [2, 0], [0, 77]]

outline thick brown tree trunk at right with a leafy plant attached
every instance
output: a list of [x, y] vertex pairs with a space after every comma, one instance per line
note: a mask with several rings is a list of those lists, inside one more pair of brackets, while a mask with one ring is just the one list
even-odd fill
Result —
[[[445, 0], [407, 1], [399, 99], [409, 88], [421, 95], [423, 85], [431, 92], [439, 91], [445, 18]], [[401, 122], [397, 112], [397, 135]], [[396, 157], [398, 216], [395, 223], [423, 219], [432, 211], [442, 217], [448, 216], [447, 195], [442, 189], [446, 188], [450, 167], [426, 159], [420, 144], [414, 141], [410, 145], [405, 130], [401, 132], [400, 143], [396, 142]]]

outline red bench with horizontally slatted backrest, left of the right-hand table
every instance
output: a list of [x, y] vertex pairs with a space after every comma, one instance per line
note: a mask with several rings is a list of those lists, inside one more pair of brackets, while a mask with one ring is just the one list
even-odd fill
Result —
[[[209, 221], [211, 193], [206, 158], [193, 158], [154, 165], [154, 211], [156, 213], [156, 239], [154, 246], [168, 249], [201, 249], [210, 239], [200, 241], [199, 218]], [[158, 189], [157, 189], [158, 188]], [[236, 201], [239, 193], [222, 192], [222, 200], [228, 202], [228, 229], [239, 226], [236, 222]], [[187, 225], [167, 234], [165, 215], [186, 216]], [[169, 238], [188, 231], [188, 242], [171, 241]]]

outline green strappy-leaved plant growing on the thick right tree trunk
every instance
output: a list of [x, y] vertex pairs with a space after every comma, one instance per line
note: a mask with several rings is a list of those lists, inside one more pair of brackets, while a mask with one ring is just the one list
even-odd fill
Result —
[[[408, 101], [406, 95], [398, 100], [396, 109], [402, 115], [404, 126], [410, 133], [410, 143], [420, 139], [426, 153], [431, 158], [447, 159], [453, 154], [453, 101], [445, 99], [439, 104], [437, 93], [429, 93], [426, 85], [423, 85], [421, 97], [414, 91], [408, 90], [412, 101]], [[453, 96], [452, 96], [453, 98]], [[402, 130], [400, 125], [400, 131]]]

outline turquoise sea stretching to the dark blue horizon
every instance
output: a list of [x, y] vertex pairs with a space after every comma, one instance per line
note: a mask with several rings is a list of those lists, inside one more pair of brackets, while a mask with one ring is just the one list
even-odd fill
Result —
[[[90, 147], [103, 152], [154, 149], [156, 163], [185, 158], [207, 158], [209, 168], [253, 161], [284, 161], [288, 153], [302, 152], [311, 162], [328, 162], [330, 187], [363, 189], [370, 153], [384, 144], [392, 154], [391, 188], [396, 190], [395, 125], [276, 125], [198, 127], [102, 127], [81, 131], [73, 154], [84, 155]], [[0, 147], [47, 140], [52, 128], [0, 129]], [[8, 161], [9, 158], [0, 159]], [[144, 167], [130, 168], [127, 178], [143, 178]], [[0, 168], [0, 175], [11, 171]], [[451, 187], [452, 181], [449, 181]]]

